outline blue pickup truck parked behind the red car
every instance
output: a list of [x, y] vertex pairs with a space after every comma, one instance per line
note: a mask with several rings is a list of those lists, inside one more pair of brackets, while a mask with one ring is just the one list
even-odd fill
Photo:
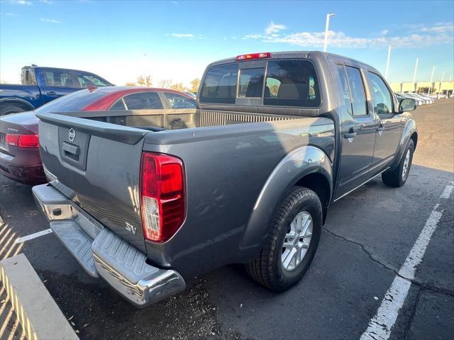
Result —
[[22, 85], [0, 84], [0, 115], [31, 111], [55, 98], [88, 86], [112, 86], [96, 74], [36, 65], [22, 68]]

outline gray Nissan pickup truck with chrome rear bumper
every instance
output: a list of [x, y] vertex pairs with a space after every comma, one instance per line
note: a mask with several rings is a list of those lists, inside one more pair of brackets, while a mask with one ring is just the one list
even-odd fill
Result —
[[394, 187], [409, 176], [415, 102], [362, 62], [240, 55], [207, 67], [198, 101], [38, 114], [49, 181], [33, 187], [38, 205], [87, 273], [138, 307], [228, 263], [285, 290], [314, 258], [330, 203], [380, 174]]

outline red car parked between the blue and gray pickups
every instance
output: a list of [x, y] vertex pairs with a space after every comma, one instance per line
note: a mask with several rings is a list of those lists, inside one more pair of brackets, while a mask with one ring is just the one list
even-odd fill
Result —
[[56, 99], [35, 111], [0, 117], [0, 174], [26, 184], [45, 183], [35, 113], [196, 108], [191, 96], [169, 89], [110, 86]]

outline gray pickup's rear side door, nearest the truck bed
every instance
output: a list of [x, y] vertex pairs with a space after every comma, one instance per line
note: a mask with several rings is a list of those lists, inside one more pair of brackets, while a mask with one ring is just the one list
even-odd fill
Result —
[[347, 111], [341, 123], [341, 166], [335, 195], [335, 198], [340, 198], [367, 181], [378, 120], [368, 110], [360, 69], [345, 65], [336, 67]]

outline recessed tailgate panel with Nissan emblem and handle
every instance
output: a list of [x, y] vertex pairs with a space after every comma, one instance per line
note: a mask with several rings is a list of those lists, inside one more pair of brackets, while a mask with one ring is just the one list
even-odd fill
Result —
[[74, 128], [60, 126], [58, 128], [58, 140], [62, 161], [85, 171], [87, 169], [90, 135]]

